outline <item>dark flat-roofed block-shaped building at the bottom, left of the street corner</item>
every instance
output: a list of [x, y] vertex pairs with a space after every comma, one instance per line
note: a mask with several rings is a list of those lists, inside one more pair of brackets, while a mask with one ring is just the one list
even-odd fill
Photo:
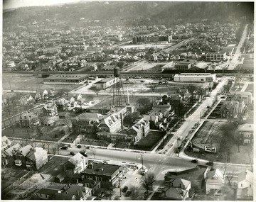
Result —
[[112, 188], [119, 185], [119, 178], [122, 178], [122, 166], [115, 164], [94, 164], [93, 162], [82, 171], [84, 179], [92, 179], [95, 181], [105, 181]]

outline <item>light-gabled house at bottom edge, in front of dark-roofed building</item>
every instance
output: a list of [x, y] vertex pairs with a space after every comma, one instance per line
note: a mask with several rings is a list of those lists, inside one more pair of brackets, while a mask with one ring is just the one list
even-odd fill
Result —
[[159, 199], [185, 201], [186, 198], [188, 198], [190, 189], [191, 181], [177, 178], [171, 182], [169, 188], [164, 189], [164, 191], [159, 195]]

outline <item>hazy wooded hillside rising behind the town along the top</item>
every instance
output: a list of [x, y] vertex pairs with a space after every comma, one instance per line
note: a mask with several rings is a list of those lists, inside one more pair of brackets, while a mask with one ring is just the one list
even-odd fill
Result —
[[168, 2], [168, 1], [81, 1], [57, 6], [33, 6], [4, 11], [4, 22], [18, 23], [56, 19], [75, 26], [85, 20], [116, 21], [122, 25], [153, 25], [210, 20], [233, 21], [247, 16], [253, 18], [254, 3], [239, 2]]

